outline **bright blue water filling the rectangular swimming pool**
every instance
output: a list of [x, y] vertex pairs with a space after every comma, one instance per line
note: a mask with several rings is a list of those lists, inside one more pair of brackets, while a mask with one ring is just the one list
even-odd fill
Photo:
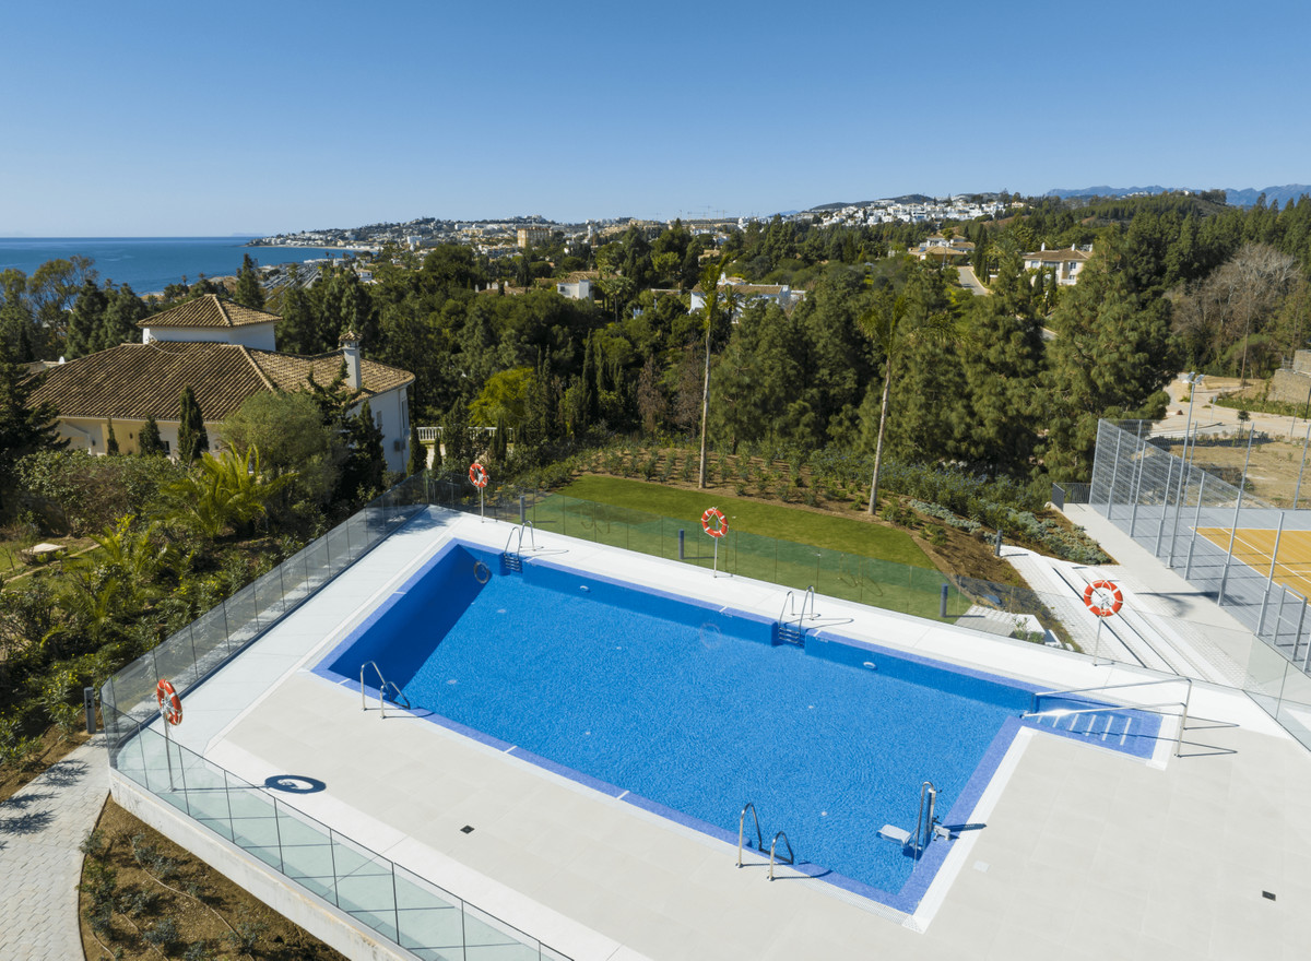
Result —
[[[751, 801], [766, 846], [783, 830], [809, 873], [907, 911], [948, 843], [916, 861], [877, 830], [914, 827], [926, 780], [966, 823], [1034, 690], [458, 543], [320, 670], [366, 661], [439, 722], [732, 843]], [[1150, 753], [1150, 716], [1124, 738], [1117, 717], [1099, 742]]]

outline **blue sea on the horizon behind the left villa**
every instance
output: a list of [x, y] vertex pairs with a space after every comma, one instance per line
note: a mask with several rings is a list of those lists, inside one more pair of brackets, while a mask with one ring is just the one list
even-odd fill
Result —
[[342, 248], [245, 246], [253, 237], [0, 237], [0, 270], [16, 267], [29, 277], [46, 261], [75, 254], [96, 262], [98, 279], [155, 294], [170, 283], [229, 277], [249, 253], [261, 266], [341, 258]]

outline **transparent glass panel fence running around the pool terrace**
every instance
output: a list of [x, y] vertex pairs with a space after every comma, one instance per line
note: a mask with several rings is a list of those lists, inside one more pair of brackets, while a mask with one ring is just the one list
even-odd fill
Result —
[[[421, 928], [429, 920], [442, 918], [438, 928], [443, 932], [454, 930], [454, 914], [437, 915], [433, 911], [446, 909], [434, 907], [429, 902], [422, 906], [417, 903], [420, 890], [429, 892], [425, 897], [439, 898], [447, 906], [459, 905], [460, 916], [472, 919], [464, 928], [476, 932], [475, 941], [464, 943], [467, 958], [479, 957], [476, 952], [488, 947], [479, 941], [489, 936], [480, 924], [497, 931], [513, 928], [454, 895], [438, 893], [439, 889], [421, 882], [404, 868], [392, 865], [340, 833], [294, 810], [283, 798], [265, 788], [245, 784], [203, 758], [190, 755], [176, 743], [172, 745], [176, 766], [170, 776], [172, 762], [157, 724], [153, 724], [159, 718], [155, 686], [161, 678], [168, 678], [177, 692], [185, 695], [426, 505], [465, 513], [482, 510], [486, 517], [514, 524], [531, 522], [532, 531], [526, 531], [524, 548], [531, 547], [534, 532], [557, 532], [676, 560], [707, 572], [717, 566], [726, 574], [777, 583], [796, 591], [797, 611], [801, 610], [801, 595], [806, 589], [814, 587], [819, 595], [956, 623], [996, 636], [1082, 649], [1101, 659], [1165, 673], [1188, 673], [1186, 666], [1172, 663], [1156, 652], [1151, 631], [1145, 624], [1135, 625], [1127, 619], [1116, 618], [1113, 620], [1118, 623], [1110, 627], [1089, 618], [1075, 590], [1036, 591], [990, 581], [948, 577], [937, 570], [747, 534], [732, 526], [728, 535], [720, 539], [716, 557], [714, 544], [701, 531], [699, 518], [666, 518], [509, 485], [488, 488], [480, 505], [477, 492], [467, 482], [442, 480], [431, 473], [416, 475], [134, 661], [110, 678], [101, 691], [110, 763], [115, 768], [228, 840], [241, 846], [249, 843], [248, 850], [261, 860], [273, 864], [271, 859], [277, 853], [278, 863], [274, 867], [279, 871], [298, 882], [308, 880], [304, 884], [307, 889], [400, 944], [405, 944], [404, 939], [409, 937], [406, 931], [417, 930], [402, 924], [406, 918], [421, 919], [414, 920]], [[785, 603], [781, 593], [779, 600], [781, 615]], [[1104, 633], [1099, 635], [1099, 629]], [[1302, 657], [1307, 653], [1307, 648], [1298, 652]], [[1311, 747], [1311, 678], [1294, 667], [1286, 656], [1264, 649], [1264, 645], [1256, 645], [1251, 663], [1244, 667], [1245, 674], [1231, 683], [1251, 694], [1302, 743]], [[184, 775], [189, 779], [186, 783], [182, 783]], [[313, 848], [313, 855], [300, 851], [300, 844], [291, 846], [296, 850], [290, 853], [283, 847], [286, 838], [281, 834], [281, 826], [290, 826], [292, 822], [299, 834], [288, 836], [304, 839], [303, 847]], [[275, 829], [277, 843], [271, 846], [265, 843], [269, 827]], [[292, 829], [288, 827], [290, 830]], [[311, 834], [317, 840], [311, 840]], [[291, 873], [305, 869], [298, 860], [302, 855], [312, 859], [326, 852], [332, 861], [337, 851], [342, 852], [342, 864], [351, 865], [351, 872], [340, 873], [334, 868], [329, 873]], [[346, 851], [355, 852], [355, 860]], [[286, 869], [288, 865], [290, 872]], [[372, 867], [366, 871], [362, 865]], [[357, 867], [364, 873], [357, 874]], [[387, 885], [382, 881], [362, 881], [364, 877], [382, 876], [392, 878], [393, 895], [389, 906], [379, 907], [374, 894], [366, 901], [354, 899], [353, 892], [362, 886], [370, 892], [374, 890], [370, 885], [383, 890]], [[343, 885], [341, 880], [345, 880]], [[402, 914], [412, 906], [416, 914]], [[515, 944], [522, 945], [527, 953], [520, 954], [515, 948], [498, 957], [561, 957], [522, 932], [515, 937]], [[431, 947], [413, 951], [418, 957], [438, 956], [434, 953], [438, 949]], [[425, 954], [425, 951], [429, 953]], [[501, 945], [497, 951], [506, 949]], [[492, 952], [484, 952], [488, 953]], [[442, 956], [448, 954], [450, 949]]]

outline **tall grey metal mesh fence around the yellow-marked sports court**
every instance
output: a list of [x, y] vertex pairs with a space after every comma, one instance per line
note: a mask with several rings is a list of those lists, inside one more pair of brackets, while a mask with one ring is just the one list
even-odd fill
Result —
[[[1307, 598], [1287, 560], [1285, 535], [1311, 531], [1311, 511], [1289, 511], [1169, 454], [1151, 422], [1101, 421], [1089, 503], [1139, 545], [1302, 671], [1311, 667]], [[1255, 438], [1248, 434], [1245, 443]], [[1242, 443], [1242, 442], [1239, 442]], [[1298, 534], [1295, 534], [1298, 532]], [[1311, 577], [1311, 549], [1306, 557]], [[1308, 581], [1311, 582], [1311, 581]]]

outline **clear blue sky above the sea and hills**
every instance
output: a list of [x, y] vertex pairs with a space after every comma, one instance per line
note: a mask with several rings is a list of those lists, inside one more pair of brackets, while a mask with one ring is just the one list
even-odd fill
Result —
[[1311, 181], [1311, 7], [24, 3], [0, 236]]

